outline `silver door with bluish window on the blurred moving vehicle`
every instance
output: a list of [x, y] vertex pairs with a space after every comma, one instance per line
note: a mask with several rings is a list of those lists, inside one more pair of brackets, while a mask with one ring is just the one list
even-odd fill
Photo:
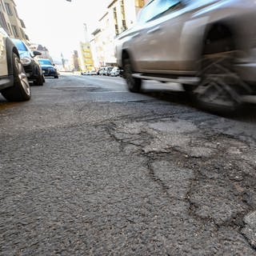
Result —
[[135, 62], [141, 71], [175, 68], [178, 38], [185, 21], [183, 8], [179, 0], [155, 0], [142, 10], [140, 18], [145, 25], [133, 42]]

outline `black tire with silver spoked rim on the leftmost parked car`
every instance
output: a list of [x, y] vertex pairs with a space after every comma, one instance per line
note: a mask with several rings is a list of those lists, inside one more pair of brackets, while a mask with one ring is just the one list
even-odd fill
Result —
[[26, 78], [26, 72], [22, 66], [18, 55], [12, 53], [14, 86], [1, 91], [2, 96], [10, 102], [28, 101], [31, 97], [30, 83]]

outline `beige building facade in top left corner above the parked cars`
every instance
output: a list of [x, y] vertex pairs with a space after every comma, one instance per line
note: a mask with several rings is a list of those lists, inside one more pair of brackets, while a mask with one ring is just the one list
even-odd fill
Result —
[[0, 0], [0, 23], [10, 38], [19, 38], [29, 44], [26, 26], [18, 17], [14, 0]]

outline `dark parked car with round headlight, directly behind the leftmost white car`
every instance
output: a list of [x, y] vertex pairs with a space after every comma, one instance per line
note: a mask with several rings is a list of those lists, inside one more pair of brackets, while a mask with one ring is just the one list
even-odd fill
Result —
[[37, 55], [41, 55], [41, 53], [37, 50], [31, 52], [29, 47], [26, 46], [26, 43], [20, 39], [12, 39], [12, 41], [18, 49], [18, 54], [26, 72], [26, 77], [29, 81], [34, 82], [35, 86], [42, 86], [43, 82], [45, 82], [45, 78], [42, 74], [42, 67], [34, 58]]

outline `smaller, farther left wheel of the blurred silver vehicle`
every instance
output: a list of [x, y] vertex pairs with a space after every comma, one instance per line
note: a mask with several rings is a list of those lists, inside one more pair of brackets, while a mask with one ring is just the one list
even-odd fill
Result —
[[133, 77], [133, 68], [131, 66], [130, 58], [124, 60], [124, 78], [126, 79], [126, 84], [128, 90], [133, 93], [138, 93], [142, 87], [142, 79]]

